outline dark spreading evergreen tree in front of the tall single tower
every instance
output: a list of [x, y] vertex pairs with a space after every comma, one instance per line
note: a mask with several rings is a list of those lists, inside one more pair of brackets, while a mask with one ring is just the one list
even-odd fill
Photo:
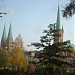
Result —
[[73, 52], [73, 48], [69, 45], [68, 41], [52, 44], [55, 29], [56, 25], [50, 24], [48, 30], [44, 30], [43, 33], [45, 33], [45, 35], [40, 38], [40, 42], [31, 43], [32, 46], [38, 49], [43, 48], [43, 50], [36, 54], [36, 57], [40, 60], [41, 64], [49, 65], [52, 68], [55, 66], [62, 67], [62, 65], [71, 66], [71, 64], [66, 61], [66, 58], [67, 54]]

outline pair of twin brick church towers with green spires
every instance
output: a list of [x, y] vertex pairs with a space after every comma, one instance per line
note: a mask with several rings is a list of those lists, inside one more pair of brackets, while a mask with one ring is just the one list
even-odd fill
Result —
[[2, 35], [2, 39], [1, 39], [1, 48], [11, 50], [12, 44], [13, 44], [13, 38], [12, 38], [11, 24], [10, 24], [10, 28], [9, 28], [9, 32], [8, 32], [8, 37], [6, 37], [6, 28], [4, 25], [3, 35]]

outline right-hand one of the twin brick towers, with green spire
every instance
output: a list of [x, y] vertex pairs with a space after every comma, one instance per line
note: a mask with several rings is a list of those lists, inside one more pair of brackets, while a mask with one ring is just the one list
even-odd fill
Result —
[[9, 28], [8, 37], [7, 37], [8, 50], [12, 49], [12, 44], [13, 44], [13, 38], [12, 38], [12, 28], [11, 28], [11, 23], [10, 23], [10, 28]]

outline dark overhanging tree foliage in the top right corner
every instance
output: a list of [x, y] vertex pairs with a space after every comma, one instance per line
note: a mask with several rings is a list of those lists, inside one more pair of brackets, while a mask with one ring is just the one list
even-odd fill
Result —
[[75, 0], [70, 0], [70, 3], [65, 6], [62, 12], [63, 17], [71, 17], [75, 14]]

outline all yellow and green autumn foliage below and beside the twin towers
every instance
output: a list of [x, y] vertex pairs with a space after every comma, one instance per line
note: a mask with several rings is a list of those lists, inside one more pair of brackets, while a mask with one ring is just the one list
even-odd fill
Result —
[[27, 68], [27, 59], [20, 34], [13, 42], [12, 50], [0, 49], [0, 68]]

